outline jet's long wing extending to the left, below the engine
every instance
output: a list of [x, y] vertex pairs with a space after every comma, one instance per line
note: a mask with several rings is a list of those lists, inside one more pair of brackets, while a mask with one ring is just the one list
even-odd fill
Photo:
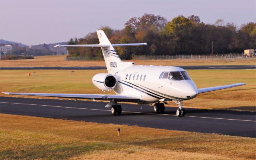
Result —
[[26, 95], [26, 96], [46, 96], [58, 98], [78, 98], [78, 99], [92, 99], [92, 100], [115, 100], [116, 102], [139, 102], [140, 98], [136, 96], [125, 96], [116, 94], [56, 94], [56, 93], [12, 93], [3, 92], [10, 95]]

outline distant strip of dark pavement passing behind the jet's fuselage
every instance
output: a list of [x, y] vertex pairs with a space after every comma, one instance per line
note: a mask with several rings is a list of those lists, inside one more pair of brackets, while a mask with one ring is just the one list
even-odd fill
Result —
[[[185, 70], [218, 70], [218, 69], [256, 69], [255, 65], [247, 66], [177, 66]], [[105, 66], [90, 66], [90, 67], [0, 67], [0, 70], [102, 70]]]

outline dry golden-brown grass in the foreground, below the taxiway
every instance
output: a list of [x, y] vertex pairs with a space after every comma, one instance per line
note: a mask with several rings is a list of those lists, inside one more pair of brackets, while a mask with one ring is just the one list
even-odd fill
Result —
[[[256, 138], [0, 114], [0, 159], [255, 159]], [[118, 137], [117, 128], [121, 128]]]

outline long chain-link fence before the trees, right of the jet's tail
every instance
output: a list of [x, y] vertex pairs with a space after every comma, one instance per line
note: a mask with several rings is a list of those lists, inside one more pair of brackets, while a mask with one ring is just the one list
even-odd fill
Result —
[[[166, 55], [159, 55], [159, 56], [149, 56], [149, 55], [133, 55], [132, 59], [134, 60], [176, 60], [176, 59], [196, 59], [196, 60], [212, 60], [212, 59], [241, 59], [241, 58], [249, 58], [246, 56], [243, 56], [243, 54], [216, 54], [216, 55], [172, 55], [172, 56], [166, 56]], [[253, 57], [255, 58], [255, 56]]]

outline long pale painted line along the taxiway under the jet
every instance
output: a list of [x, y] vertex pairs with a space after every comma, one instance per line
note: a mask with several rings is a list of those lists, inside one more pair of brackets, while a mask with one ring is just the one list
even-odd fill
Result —
[[[58, 107], [58, 108], [74, 108], [74, 109], [82, 109], [82, 110], [99, 110], [99, 109], [91, 109], [91, 108], [77, 108], [77, 107], [64, 107], [64, 106], [50, 106], [50, 105], [42, 105], [42, 104], [26, 104], [26, 103], [10, 103], [10, 102], [0, 102], [6, 104], [24, 104], [24, 105], [31, 105], [31, 106], [47, 106], [47, 107]], [[101, 110], [101, 111], [110, 111], [110, 110]], [[140, 113], [140, 114], [157, 114], [157, 113], [144, 113], [144, 112], [129, 112], [129, 111], [122, 111], [126, 113]], [[164, 116], [176, 116], [173, 114], [157, 114], [157, 115], [164, 115]], [[213, 118], [213, 117], [200, 117], [200, 116], [186, 116], [186, 117], [193, 117], [193, 118], [208, 118], [208, 119], [218, 119], [218, 120], [237, 120], [237, 119], [228, 119], [228, 118]], [[238, 120], [238, 121], [248, 121], [248, 122], [256, 122], [255, 120]]]

